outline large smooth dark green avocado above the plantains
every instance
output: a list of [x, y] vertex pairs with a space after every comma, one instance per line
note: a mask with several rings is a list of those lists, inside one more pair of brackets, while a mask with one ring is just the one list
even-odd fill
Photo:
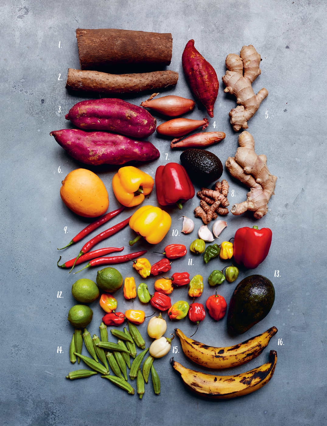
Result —
[[243, 334], [269, 314], [275, 301], [272, 282], [262, 275], [250, 275], [236, 286], [229, 302], [227, 328]]

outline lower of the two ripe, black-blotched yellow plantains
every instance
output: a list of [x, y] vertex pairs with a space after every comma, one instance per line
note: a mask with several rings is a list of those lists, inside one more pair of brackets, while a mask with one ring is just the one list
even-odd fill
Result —
[[186, 386], [198, 395], [209, 398], [235, 398], [260, 389], [274, 374], [277, 352], [270, 351], [269, 362], [235, 376], [216, 376], [185, 368], [180, 363], [170, 363], [181, 374]]

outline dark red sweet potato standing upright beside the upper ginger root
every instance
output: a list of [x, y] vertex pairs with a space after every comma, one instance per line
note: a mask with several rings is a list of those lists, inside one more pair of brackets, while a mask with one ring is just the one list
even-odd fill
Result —
[[194, 40], [189, 40], [182, 55], [182, 65], [192, 92], [213, 117], [219, 82], [212, 65], [195, 49]]

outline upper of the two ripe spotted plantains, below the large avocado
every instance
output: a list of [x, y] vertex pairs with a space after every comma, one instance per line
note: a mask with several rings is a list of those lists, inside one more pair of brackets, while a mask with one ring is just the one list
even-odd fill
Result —
[[257, 357], [278, 330], [276, 327], [272, 327], [258, 336], [227, 348], [207, 346], [186, 337], [178, 328], [175, 328], [175, 331], [181, 339], [181, 345], [186, 357], [200, 366], [217, 369], [241, 366]]

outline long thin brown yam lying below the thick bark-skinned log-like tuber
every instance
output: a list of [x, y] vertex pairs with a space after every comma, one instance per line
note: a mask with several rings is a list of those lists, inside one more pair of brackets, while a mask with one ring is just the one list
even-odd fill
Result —
[[177, 81], [178, 72], [169, 70], [140, 74], [107, 74], [69, 68], [66, 89], [106, 94], [138, 93], [175, 86]]

